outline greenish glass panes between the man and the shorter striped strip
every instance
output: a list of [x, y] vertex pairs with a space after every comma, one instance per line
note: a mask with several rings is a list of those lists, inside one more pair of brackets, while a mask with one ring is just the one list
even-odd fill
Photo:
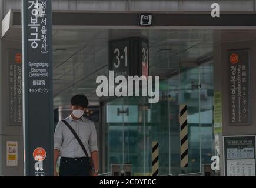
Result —
[[118, 98], [107, 112], [107, 172], [110, 164], [131, 163], [134, 176], [151, 175], [151, 116], [145, 98]]

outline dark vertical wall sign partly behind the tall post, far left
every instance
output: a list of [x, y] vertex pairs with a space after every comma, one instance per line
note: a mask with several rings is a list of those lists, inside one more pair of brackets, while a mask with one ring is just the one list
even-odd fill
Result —
[[9, 123], [22, 126], [22, 61], [21, 52], [9, 50]]

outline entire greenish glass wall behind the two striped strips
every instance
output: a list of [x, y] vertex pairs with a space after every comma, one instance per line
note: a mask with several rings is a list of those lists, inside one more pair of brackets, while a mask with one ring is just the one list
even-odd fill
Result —
[[[152, 142], [158, 142], [159, 175], [201, 172], [213, 153], [212, 61], [183, 68], [160, 81], [160, 100], [116, 98], [107, 103], [106, 169], [131, 163], [133, 176], [151, 176]], [[188, 109], [188, 167], [181, 169], [179, 105]], [[183, 170], [183, 171], [182, 171]]]

